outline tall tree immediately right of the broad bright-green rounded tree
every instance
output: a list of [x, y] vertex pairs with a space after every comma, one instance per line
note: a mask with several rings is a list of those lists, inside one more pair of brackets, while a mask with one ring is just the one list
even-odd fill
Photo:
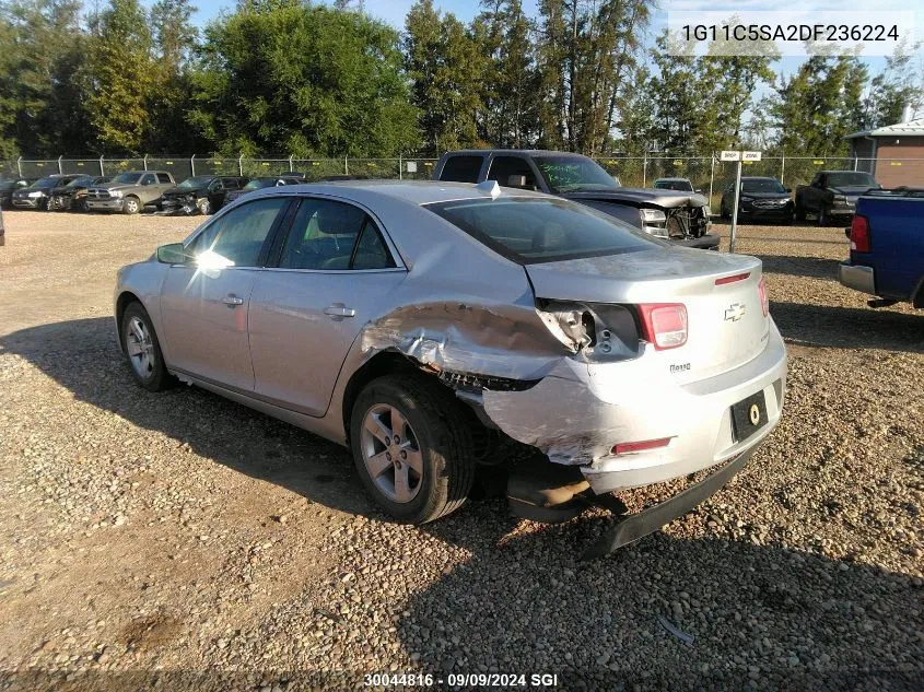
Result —
[[432, 0], [418, 0], [405, 21], [403, 50], [424, 150], [477, 144], [483, 63], [472, 34], [454, 14], [434, 10]]

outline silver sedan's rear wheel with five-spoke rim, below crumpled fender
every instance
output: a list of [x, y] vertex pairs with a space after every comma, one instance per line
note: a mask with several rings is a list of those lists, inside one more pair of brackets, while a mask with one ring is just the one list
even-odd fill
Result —
[[350, 446], [369, 493], [390, 516], [425, 524], [458, 509], [475, 481], [469, 421], [448, 389], [387, 375], [360, 392]]

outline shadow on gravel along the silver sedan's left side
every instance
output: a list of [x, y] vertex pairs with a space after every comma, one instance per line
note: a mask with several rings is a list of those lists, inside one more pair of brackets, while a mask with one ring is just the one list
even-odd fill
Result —
[[110, 317], [22, 329], [0, 337], [0, 351], [21, 355], [77, 399], [202, 457], [332, 509], [379, 516], [343, 447], [198, 387], [157, 394], [138, 387]]

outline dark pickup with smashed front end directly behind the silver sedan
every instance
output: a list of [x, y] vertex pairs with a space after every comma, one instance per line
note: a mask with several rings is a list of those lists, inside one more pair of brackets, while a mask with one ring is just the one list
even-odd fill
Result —
[[709, 233], [709, 201], [674, 190], [620, 187], [593, 159], [541, 150], [468, 150], [443, 154], [434, 180], [481, 183], [538, 190], [571, 199], [616, 216], [677, 245], [718, 249]]

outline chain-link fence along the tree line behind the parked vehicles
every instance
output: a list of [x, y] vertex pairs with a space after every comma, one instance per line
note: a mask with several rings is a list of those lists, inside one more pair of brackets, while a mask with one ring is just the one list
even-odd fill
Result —
[[[307, 180], [334, 176], [426, 180], [433, 175], [436, 159], [253, 159], [199, 155], [160, 155], [141, 159], [46, 159], [0, 160], [0, 175], [39, 178], [56, 173], [86, 173], [115, 176], [126, 171], [168, 171], [179, 183], [194, 175], [243, 175], [247, 177], [302, 173]], [[600, 156], [596, 160], [607, 173], [627, 187], [652, 187], [658, 178], [688, 178], [693, 188], [710, 197], [713, 208], [735, 179], [735, 163], [718, 161], [715, 155]], [[903, 161], [847, 159], [829, 156], [764, 156], [758, 162], [744, 162], [741, 175], [770, 176], [795, 189], [809, 183], [818, 171], [872, 172], [874, 164], [901, 165]]]

